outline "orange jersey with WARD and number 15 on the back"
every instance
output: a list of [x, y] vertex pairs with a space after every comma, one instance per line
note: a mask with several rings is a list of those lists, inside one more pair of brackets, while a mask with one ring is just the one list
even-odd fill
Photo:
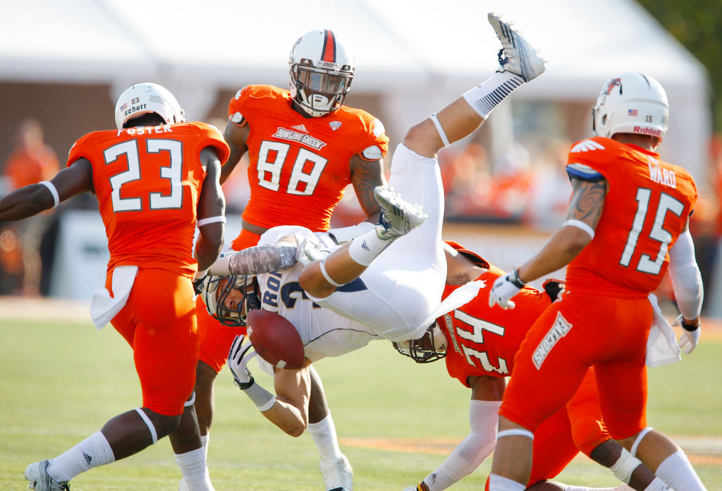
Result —
[[567, 266], [567, 291], [640, 298], [656, 290], [697, 201], [690, 173], [596, 136], [573, 145], [567, 174], [609, 185], [594, 238]]

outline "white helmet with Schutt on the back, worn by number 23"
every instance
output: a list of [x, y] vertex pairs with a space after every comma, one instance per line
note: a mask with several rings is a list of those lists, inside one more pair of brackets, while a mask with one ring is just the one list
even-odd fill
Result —
[[156, 113], [166, 124], [186, 121], [186, 112], [170, 90], [158, 84], [144, 82], [129, 87], [118, 97], [116, 126], [123, 129], [123, 124], [130, 118], [147, 113]]

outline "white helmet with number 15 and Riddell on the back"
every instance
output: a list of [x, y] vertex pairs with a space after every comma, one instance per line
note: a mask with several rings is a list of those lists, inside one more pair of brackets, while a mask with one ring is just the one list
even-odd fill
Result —
[[639, 73], [625, 73], [604, 84], [591, 110], [595, 136], [615, 133], [658, 136], [669, 127], [669, 103], [661, 84]]

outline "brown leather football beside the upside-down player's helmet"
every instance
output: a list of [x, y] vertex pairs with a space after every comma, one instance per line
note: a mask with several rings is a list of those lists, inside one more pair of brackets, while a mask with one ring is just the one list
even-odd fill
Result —
[[248, 339], [258, 356], [277, 368], [303, 368], [303, 341], [286, 318], [268, 310], [253, 309], [246, 318]]

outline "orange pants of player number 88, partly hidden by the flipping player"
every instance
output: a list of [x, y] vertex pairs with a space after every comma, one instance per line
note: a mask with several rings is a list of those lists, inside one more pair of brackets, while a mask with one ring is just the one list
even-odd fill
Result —
[[[253, 247], [258, 244], [261, 235], [248, 230], [241, 230], [240, 235], [233, 240], [231, 246], [234, 251]], [[201, 295], [196, 298], [196, 313], [198, 315], [198, 330], [201, 339], [199, 360], [219, 373], [228, 359], [228, 350], [233, 339], [238, 334], [245, 334], [244, 327], [224, 326], [206, 310], [206, 304]]]

